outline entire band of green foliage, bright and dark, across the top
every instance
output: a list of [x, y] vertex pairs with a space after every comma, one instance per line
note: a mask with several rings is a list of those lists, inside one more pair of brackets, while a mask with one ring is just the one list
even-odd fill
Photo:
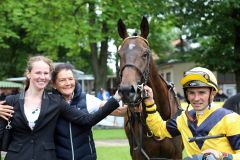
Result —
[[[95, 76], [96, 84], [106, 82], [108, 42], [122, 42], [117, 21], [139, 33], [142, 16], [150, 23], [149, 43], [161, 60], [178, 58], [201, 61], [210, 69], [235, 71], [240, 53], [239, 6], [225, 1], [36, 1], [0, 2], [1, 77], [21, 76], [26, 58], [37, 53], [54, 61], [70, 62]], [[238, 31], [238, 32], [237, 32]], [[174, 53], [171, 41], [186, 35], [201, 47]], [[220, 62], [220, 63], [219, 63]], [[11, 69], [9, 65], [19, 67]]]

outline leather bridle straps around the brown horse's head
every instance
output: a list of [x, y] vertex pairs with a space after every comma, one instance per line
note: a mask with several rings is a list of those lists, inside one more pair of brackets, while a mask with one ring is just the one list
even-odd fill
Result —
[[[123, 42], [122, 42], [122, 45], [125, 43], [125, 41], [127, 40], [127, 39], [136, 39], [136, 38], [140, 38], [140, 39], [142, 39], [148, 46], [149, 46], [149, 43], [148, 43], [148, 41], [145, 39], [145, 38], [143, 38], [143, 37], [140, 37], [140, 36], [130, 36], [130, 37], [127, 37], [127, 38], [125, 38], [124, 40], [123, 40]], [[121, 45], [121, 46], [122, 46]], [[141, 75], [141, 82], [140, 82], [140, 84], [138, 84], [138, 90], [137, 91], [140, 91], [140, 93], [141, 93], [141, 96], [135, 101], [135, 102], [131, 102], [131, 103], [129, 103], [128, 105], [138, 105], [138, 104], [140, 104], [141, 102], [142, 102], [142, 100], [145, 98], [144, 97], [144, 90], [143, 90], [143, 86], [144, 85], [146, 85], [147, 84], [147, 81], [148, 81], [148, 76], [149, 76], [149, 67], [150, 67], [150, 56], [151, 56], [151, 51], [150, 51], [150, 49], [148, 48], [147, 49], [147, 65], [146, 65], [146, 67], [145, 67], [145, 69], [143, 70], [143, 71], [141, 71], [141, 69], [139, 69], [136, 65], [134, 65], [134, 64], [131, 64], [131, 63], [127, 63], [127, 64], [125, 64], [122, 68], [120, 68], [120, 71], [119, 71], [119, 82], [121, 82], [121, 80], [122, 80], [122, 72], [123, 72], [123, 70], [125, 69], [125, 68], [127, 68], [127, 67], [129, 67], [129, 68], [134, 68], [135, 70], [137, 70], [137, 72]]]

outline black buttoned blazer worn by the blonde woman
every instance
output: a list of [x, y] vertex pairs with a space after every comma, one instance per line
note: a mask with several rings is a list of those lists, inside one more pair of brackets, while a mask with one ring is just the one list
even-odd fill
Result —
[[[59, 115], [80, 126], [93, 126], [114, 109], [119, 103], [111, 98], [94, 114], [87, 114], [70, 107], [63, 98], [44, 92], [40, 115], [33, 130], [28, 126], [24, 114], [24, 93], [6, 98], [6, 104], [14, 107], [12, 118], [12, 141], [6, 155], [7, 160], [57, 160], [54, 144], [54, 130]], [[0, 119], [0, 140], [6, 121]]]

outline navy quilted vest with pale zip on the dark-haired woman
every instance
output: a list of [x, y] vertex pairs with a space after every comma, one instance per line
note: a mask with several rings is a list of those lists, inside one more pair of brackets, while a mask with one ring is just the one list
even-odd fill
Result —
[[[59, 94], [56, 90], [53, 92]], [[82, 93], [79, 83], [74, 89], [71, 107], [85, 113], [87, 111], [86, 95]], [[96, 149], [91, 127], [78, 125], [59, 117], [55, 131], [57, 158], [61, 160], [96, 160]]]

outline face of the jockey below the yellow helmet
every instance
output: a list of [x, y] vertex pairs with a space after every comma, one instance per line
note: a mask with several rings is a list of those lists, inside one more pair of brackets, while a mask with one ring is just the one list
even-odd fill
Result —
[[214, 92], [210, 95], [210, 88], [208, 87], [199, 87], [199, 88], [188, 88], [187, 97], [189, 102], [195, 111], [204, 111], [209, 105], [214, 97]]

